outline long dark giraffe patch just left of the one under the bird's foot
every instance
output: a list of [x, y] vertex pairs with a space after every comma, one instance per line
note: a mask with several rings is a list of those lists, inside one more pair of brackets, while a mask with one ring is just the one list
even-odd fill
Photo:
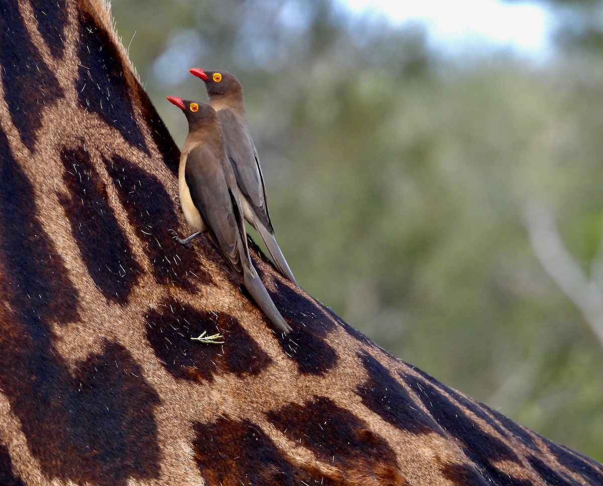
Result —
[[107, 300], [125, 305], [142, 268], [109, 205], [105, 183], [84, 147], [63, 148], [60, 159], [69, 193], [58, 199], [84, 265]]

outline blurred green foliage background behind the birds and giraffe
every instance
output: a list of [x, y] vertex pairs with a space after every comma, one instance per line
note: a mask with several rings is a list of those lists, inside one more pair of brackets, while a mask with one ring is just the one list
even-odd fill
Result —
[[451, 61], [421, 26], [327, 0], [112, 8], [177, 143], [186, 121], [165, 96], [206, 99], [187, 70], [239, 77], [303, 288], [397, 357], [603, 460], [603, 351], [523, 223], [541, 201], [585, 271], [601, 257], [603, 58]]

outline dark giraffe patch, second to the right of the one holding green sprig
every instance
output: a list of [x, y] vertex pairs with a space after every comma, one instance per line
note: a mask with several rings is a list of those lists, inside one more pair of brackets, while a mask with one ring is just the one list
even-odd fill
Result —
[[436, 434], [443, 432], [432, 417], [422, 408], [413, 406], [414, 400], [390, 372], [367, 352], [358, 357], [367, 371], [367, 380], [356, 386], [356, 393], [369, 410], [386, 422], [413, 434]]

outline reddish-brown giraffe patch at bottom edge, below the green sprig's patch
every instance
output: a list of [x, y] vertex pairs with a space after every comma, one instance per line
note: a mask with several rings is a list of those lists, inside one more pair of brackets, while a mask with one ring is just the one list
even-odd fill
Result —
[[[195, 463], [207, 486], [405, 486], [389, 479], [376, 481], [375, 473], [349, 477], [333, 468], [319, 470], [295, 464], [266, 432], [249, 419], [220, 417], [213, 423], [193, 423]], [[329, 461], [330, 462], [330, 461]], [[353, 465], [350, 465], [350, 469]]]

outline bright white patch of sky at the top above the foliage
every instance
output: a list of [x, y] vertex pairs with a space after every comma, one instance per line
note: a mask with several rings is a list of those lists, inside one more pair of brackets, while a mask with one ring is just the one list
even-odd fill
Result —
[[534, 57], [549, 54], [552, 14], [536, 2], [497, 0], [339, 0], [352, 11], [385, 14], [395, 23], [421, 22], [435, 47], [469, 43], [511, 47]]

